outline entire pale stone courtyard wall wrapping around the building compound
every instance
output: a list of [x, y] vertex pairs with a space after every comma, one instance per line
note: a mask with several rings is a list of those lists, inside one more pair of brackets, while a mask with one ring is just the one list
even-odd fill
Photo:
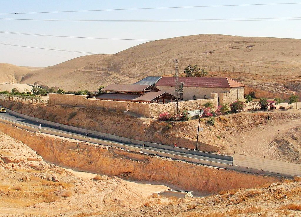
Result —
[[[202, 107], [207, 102], [213, 103], [214, 107], [217, 107], [217, 94], [211, 94], [211, 98], [198, 99], [180, 102], [181, 112], [187, 110], [197, 110], [197, 106]], [[73, 94], [49, 94], [49, 105], [64, 105], [71, 107], [86, 107], [96, 109], [107, 109], [113, 111], [129, 111], [142, 117], [158, 118], [160, 113], [169, 112], [174, 113], [174, 102], [167, 104], [158, 103], [138, 103], [130, 101], [112, 101], [112, 100], [98, 100], [87, 99], [84, 95]]]

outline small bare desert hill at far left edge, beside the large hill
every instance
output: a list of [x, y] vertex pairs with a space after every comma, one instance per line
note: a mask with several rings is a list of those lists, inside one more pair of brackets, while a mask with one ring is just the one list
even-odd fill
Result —
[[18, 83], [22, 78], [30, 73], [33, 69], [15, 66], [8, 63], [0, 63], [0, 83], [14, 82]]

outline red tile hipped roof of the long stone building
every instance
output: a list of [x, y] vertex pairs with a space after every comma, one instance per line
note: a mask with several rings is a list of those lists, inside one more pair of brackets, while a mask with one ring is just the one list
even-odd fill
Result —
[[[245, 85], [230, 78], [217, 77], [179, 77], [179, 82], [184, 82], [184, 87], [245, 87]], [[156, 86], [175, 86], [175, 77], [163, 77], [157, 82]]]

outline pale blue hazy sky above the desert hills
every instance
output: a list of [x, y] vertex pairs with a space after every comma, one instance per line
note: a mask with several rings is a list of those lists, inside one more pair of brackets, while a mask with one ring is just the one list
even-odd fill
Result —
[[[294, 0], [266, 1], [67, 1], [10, 0], [0, 1], [0, 14], [44, 11], [100, 10], [121, 8], [154, 8], [202, 5], [235, 5], [301, 2]], [[301, 4], [173, 8], [75, 13], [7, 14], [0, 18], [63, 19], [63, 20], [163, 20], [163, 19], [236, 19], [301, 17]], [[301, 39], [299, 20], [216, 21], [216, 22], [67, 22], [35, 20], [1, 20], [0, 31], [46, 35], [82, 36], [124, 39], [165, 39], [196, 34], [225, 34]], [[0, 33], [0, 43], [114, 54], [144, 43], [106, 39], [70, 39]], [[47, 55], [46, 55], [47, 54]], [[87, 54], [48, 51], [0, 44], [0, 63], [45, 67]]]

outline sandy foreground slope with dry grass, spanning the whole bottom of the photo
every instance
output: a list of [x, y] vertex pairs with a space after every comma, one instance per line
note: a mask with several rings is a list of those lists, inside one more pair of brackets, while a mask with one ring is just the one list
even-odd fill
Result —
[[0, 133], [1, 216], [226, 217], [230, 211], [231, 216], [301, 216], [299, 179], [203, 198], [151, 197], [166, 188], [64, 169]]

